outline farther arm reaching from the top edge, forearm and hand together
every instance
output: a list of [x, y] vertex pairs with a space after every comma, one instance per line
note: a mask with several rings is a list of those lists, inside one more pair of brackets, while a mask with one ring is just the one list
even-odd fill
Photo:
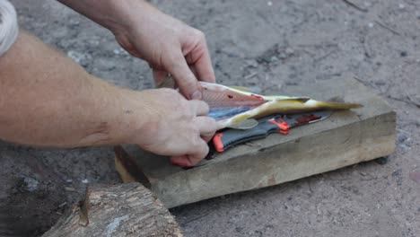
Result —
[[112, 31], [131, 55], [153, 68], [155, 83], [170, 73], [188, 99], [201, 99], [197, 81], [215, 82], [203, 32], [143, 0], [60, 0]]

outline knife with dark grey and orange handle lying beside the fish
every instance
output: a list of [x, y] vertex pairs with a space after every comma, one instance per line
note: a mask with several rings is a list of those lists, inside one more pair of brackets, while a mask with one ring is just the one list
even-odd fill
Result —
[[[280, 133], [289, 134], [290, 128], [324, 120], [331, 115], [331, 110], [319, 110], [314, 112], [305, 112], [288, 115], [271, 115], [258, 119], [258, 126], [247, 130], [226, 129], [213, 137], [215, 151], [223, 153], [234, 145], [240, 145], [245, 142], [266, 138], [269, 134]], [[211, 147], [213, 148], [213, 147]]]

